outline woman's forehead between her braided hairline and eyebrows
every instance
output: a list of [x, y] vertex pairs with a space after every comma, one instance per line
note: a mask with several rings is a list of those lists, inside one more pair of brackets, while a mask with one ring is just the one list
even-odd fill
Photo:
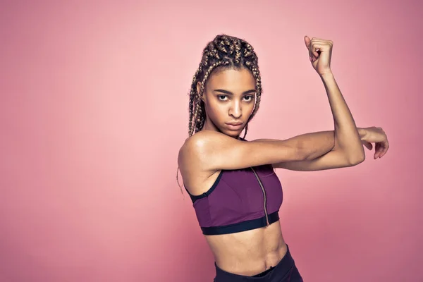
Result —
[[255, 78], [247, 68], [223, 68], [212, 73], [207, 80], [207, 88], [243, 92], [255, 89]]

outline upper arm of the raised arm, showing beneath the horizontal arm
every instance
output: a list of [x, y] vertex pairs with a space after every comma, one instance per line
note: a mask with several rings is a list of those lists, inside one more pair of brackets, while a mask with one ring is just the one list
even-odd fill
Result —
[[286, 168], [291, 171], [323, 171], [326, 169], [355, 166], [340, 149], [333, 149], [326, 154], [312, 160], [283, 161], [273, 164], [274, 168]]

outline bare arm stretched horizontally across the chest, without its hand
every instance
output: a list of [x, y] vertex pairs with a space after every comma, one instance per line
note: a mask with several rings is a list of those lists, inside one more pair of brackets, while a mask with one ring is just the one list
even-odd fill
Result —
[[[329, 136], [322, 133], [306, 133], [287, 140], [242, 141], [211, 130], [195, 133], [180, 148], [180, 167], [201, 171], [239, 169], [284, 161], [314, 159], [329, 152], [333, 144], [323, 140], [316, 145], [316, 137]], [[331, 137], [333, 140], [333, 137]]]

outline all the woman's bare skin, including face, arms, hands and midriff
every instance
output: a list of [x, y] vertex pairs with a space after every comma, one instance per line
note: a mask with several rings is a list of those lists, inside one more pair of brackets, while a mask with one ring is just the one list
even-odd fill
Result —
[[[255, 107], [255, 79], [246, 68], [213, 73], [202, 96], [207, 114], [204, 127], [185, 140], [178, 154], [184, 185], [192, 195], [209, 190], [221, 170], [262, 164], [294, 171], [355, 166], [365, 159], [363, 145], [372, 149], [372, 142], [374, 159], [386, 154], [389, 145], [384, 130], [355, 125], [330, 68], [333, 42], [307, 36], [304, 40], [310, 63], [326, 89], [334, 130], [288, 140], [241, 141], [238, 137]], [[287, 250], [279, 221], [251, 231], [204, 236], [216, 264], [233, 274], [259, 274], [278, 264]]]

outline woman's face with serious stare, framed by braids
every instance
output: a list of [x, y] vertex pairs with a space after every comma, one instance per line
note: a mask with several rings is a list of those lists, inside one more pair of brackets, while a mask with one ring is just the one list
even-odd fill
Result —
[[207, 115], [203, 128], [238, 137], [255, 107], [255, 94], [255, 78], [247, 68], [213, 73], [202, 95]]

